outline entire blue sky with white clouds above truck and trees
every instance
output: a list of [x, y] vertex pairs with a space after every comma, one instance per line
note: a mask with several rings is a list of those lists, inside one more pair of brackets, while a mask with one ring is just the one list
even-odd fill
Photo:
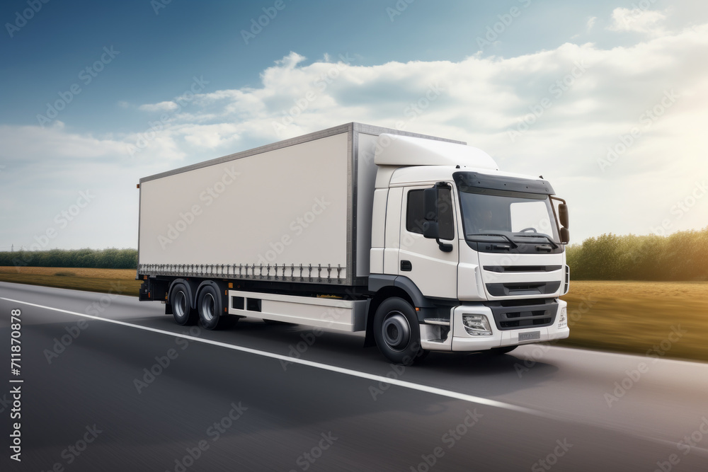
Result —
[[542, 173], [576, 242], [708, 226], [706, 2], [25, 0], [0, 19], [0, 250], [49, 229], [42, 248], [135, 247], [140, 177], [353, 120]]

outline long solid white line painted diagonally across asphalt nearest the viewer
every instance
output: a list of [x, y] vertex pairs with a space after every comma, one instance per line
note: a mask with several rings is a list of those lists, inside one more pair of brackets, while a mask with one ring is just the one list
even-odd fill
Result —
[[401, 386], [404, 388], [410, 388], [411, 390], [422, 391], [426, 393], [433, 393], [434, 395], [446, 396], [448, 398], [455, 398], [457, 400], [467, 401], [470, 403], [477, 403], [479, 405], [486, 405], [495, 408], [503, 408], [504, 410], [517, 411], [519, 413], [527, 413], [528, 415], [540, 416], [543, 418], [554, 418], [548, 413], [544, 413], [540, 410], [533, 410], [532, 408], [525, 408], [523, 406], [512, 405], [511, 403], [504, 403], [502, 401], [491, 400], [489, 398], [483, 398], [474, 395], [467, 395], [466, 393], [459, 393], [455, 391], [445, 390], [444, 388], [431, 387], [421, 384], [413, 384], [413, 382], [403, 381], [399, 379], [390, 379], [386, 376], [368, 374], [367, 372], [359, 372], [357, 370], [346, 369], [344, 367], [336, 367], [329, 364], [321, 364], [320, 362], [313, 362], [305, 359], [295, 359], [295, 357], [284, 356], [280, 354], [275, 354], [274, 352], [261, 351], [256, 349], [251, 349], [250, 347], [237, 346], [233, 344], [221, 343], [219, 341], [196, 338], [195, 336], [173, 333], [171, 331], [160, 330], [157, 328], [149, 328], [147, 326], [134, 325], [132, 323], [126, 323], [125, 321], [112, 320], [109, 318], [101, 318], [100, 316], [87, 315], [86, 313], [77, 313], [76, 311], [62, 310], [54, 308], [53, 306], [44, 306], [33, 304], [28, 301], [8, 299], [5, 297], [0, 297], [0, 300], [12, 301], [13, 303], [21, 303], [24, 305], [35, 306], [37, 308], [43, 308], [47, 310], [59, 311], [60, 313], [68, 313], [70, 315], [82, 316], [84, 318], [91, 318], [92, 320], [105, 321], [106, 323], [114, 323], [121, 326], [130, 326], [131, 328], [138, 328], [141, 330], [151, 331], [152, 333], [159, 333], [168, 336], [173, 336], [175, 338], [183, 338], [185, 340], [195, 341], [197, 343], [205, 343], [210, 345], [215, 345], [219, 347], [226, 347], [227, 349], [232, 349], [241, 352], [248, 352], [249, 354], [255, 354], [263, 357], [270, 357], [272, 359], [278, 359], [285, 362], [292, 362], [292, 364], [301, 364], [309, 367], [314, 367], [316, 369], [329, 370], [330, 372], [338, 372], [339, 374], [345, 374], [355, 377], [360, 377], [362, 379], [368, 379], [372, 381], [382, 382], [384, 384]]

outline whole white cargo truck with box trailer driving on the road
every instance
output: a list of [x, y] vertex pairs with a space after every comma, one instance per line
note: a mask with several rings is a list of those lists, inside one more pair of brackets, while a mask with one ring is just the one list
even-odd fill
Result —
[[462, 142], [360, 123], [142, 178], [139, 298], [364, 331], [391, 362], [567, 338], [568, 210]]

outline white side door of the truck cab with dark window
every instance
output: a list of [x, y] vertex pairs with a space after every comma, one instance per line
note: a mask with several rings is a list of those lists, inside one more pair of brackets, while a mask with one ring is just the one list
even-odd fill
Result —
[[398, 273], [415, 282], [426, 297], [457, 299], [457, 199], [453, 188], [440, 188], [440, 242], [452, 246], [452, 251], [445, 252], [440, 250], [435, 239], [423, 236], [423, 190], [426, 188], [430, 188], [430, 185], [404, 188]]

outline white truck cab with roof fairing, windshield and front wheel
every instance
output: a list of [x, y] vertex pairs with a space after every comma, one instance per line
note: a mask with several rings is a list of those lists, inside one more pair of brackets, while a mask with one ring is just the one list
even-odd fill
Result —
[[[498, 171], [471, 146], [393, 134], [379, 135], [375, 163], [370, 289], [404, 290], [419, 325], [403, 304], [377, 309], [384, 355], [568, 337], [568, 213], [546, 180]], [[406, 336], [418, 335], [416, 351]]]

